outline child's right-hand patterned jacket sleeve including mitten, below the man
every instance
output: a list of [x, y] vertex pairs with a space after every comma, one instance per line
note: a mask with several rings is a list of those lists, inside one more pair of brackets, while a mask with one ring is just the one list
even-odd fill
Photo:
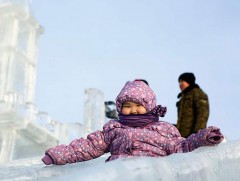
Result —
[[[176, 142], [173, 152], [191, 152], [201, 146], [219, 144], [224, 139], [220, 129], [214, 126], [199, 130], [195, 134]], [[179, 139], [178, 139], [179, 140]]]

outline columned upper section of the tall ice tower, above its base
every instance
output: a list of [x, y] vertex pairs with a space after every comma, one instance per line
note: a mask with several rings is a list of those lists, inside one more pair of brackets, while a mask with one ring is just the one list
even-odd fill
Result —
[[43, 29], [30, 16], [27, 1], [16, 2], [0, 4], [0, 100], [14, 104], [32, 103], [36, 43]]

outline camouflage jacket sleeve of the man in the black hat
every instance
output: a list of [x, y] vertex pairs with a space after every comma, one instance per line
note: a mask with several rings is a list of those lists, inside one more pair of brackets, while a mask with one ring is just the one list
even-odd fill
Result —
[[196, 114], [193, 132], [207, 127], [209, 117], [209, 102], [208, 96], [200, 91], [194, 94], [194, 111]]

